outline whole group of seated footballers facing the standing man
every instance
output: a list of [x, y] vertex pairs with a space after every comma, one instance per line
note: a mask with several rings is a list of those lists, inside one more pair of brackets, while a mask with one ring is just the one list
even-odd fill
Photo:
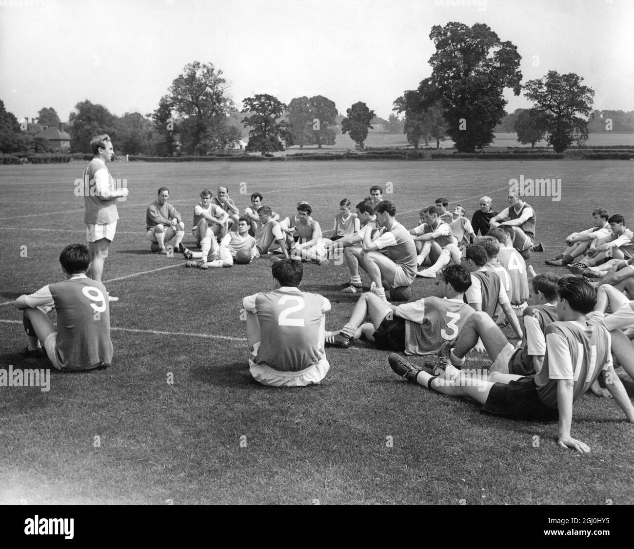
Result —
[[[364, 337], [378, 349], [392, 351], [392, 370], [411, 382], [472, 397], [483, 411], [501, 417], [559, 417], [562, 446], [589, 450], [570, 434], [573, 402], [588, 389], [611, 394], [634, 422], [634, 407], [612, 361], [634, 378], [634, 254], [628, 256], [630, 250], [624, 249], [632, 233], [624, 228], [622, 216], [594, 210], [595, 227], [570, 235], [562, 257], [548, 261], [577, 268], [574, 259], [587, 254], [580, 271], [560, 277], [535, 274], [526, 265], [530, 252], [543, 251], [543, 245], [533, 242], [534, 210], [519, 196], [509, 197], [508, 209], [500, 214], [491, 209], [490, 198], [482, 197], [472, 223], [462, 207], [450, 214], [447, 201], [440, 198], [421, 210], [421, 223], [408, 230], [396, 220], [394, 204], [374, 186], [370, 198], [356, 205], [356, 213], [349, 200], [340, 202], [334, 234], [325, 239], [308, 203], [298, 203], [297, 214], [280, 221], [262, 206], [262, 195], [254, 193], [251, 207], [238, 217], [221, 187], [216, 203], [210, 191], [200, 193], [192, 233], [201, 251], [192, 252], [183, 246], [184, 223], [167, 202], [169, 190], [160, 188], [158, 195], [147, 210], [147, 235], [159, 253], [169, 254], [165, 243], [174, 238], [174, 249], [203, 269], [250, 262], [274, 245], [284, 256], [274, 258], [273, 291], [243, 299], [250, 373], [261, 384], [318, 384], [330, 367], [325, 347], [348, 349]], [[607, 224], [612, 232], [604, 234]], [[477, 236], [484, 230], [486, 234]], [[323, 264], [338, 255], [345, 257], [350, 271], [341, 291], [360, 295], [344, 326], [327, 332], [330, 302], [299, 289], [304, 267], [297, 260]], [[107, 294], [101, 283], [86, 278], [88, 261], [85, 246], [66, 247], [60, 262], [68, 280], [16, 300], [15, 306], [24, 311], [27, 356], [37, 352], [41, 341], [60, 370], [110, 363]], [[604, 273], [594, 287], [582, 275], [596, 266]], [[363, 292], [359, 269], [370, 279], [368, 292]], [[392, 301], [410, 299], [417, 275], [433, 276], [436, 295], [399, 305], [388, 302], [386, 289]], [[58, 328], [46, 307], [57, 309]], [[501, 332], [507, 324], [519, 339], [517, 346]], [[65, 327], [70, 325], [81, 333], [70, 333]], [[474, 380], [462, 370], [472, 349], [488, 353], [486, 380]], [[437, 353], [438, 358], [419, 367], [396, 352]]]

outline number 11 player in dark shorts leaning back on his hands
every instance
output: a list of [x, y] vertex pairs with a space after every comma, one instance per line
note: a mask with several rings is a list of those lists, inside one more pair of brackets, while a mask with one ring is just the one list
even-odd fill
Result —
[[[595, 289], [581, 278], [562, 278], [558, 294], [559, 320], [546, 327], [546, 354], [535, 375], [492, 371], [486, 381], [468, 378], [451, 364], [449, 343], [440, 349], [433, 374], [398, 354], [389, 356], [390, 366], [415, 384], [450, 396], [468, 396], [482, 404], [481, 411], [498, 417], [538, 421], [559, 417], [559, 446], [589, 452], [587, 444], [571, 436], [574, 401], [601, 375], [630, 423], [634, 423], [634, 406], [612, 366], [610, 333], [586, 322], [585, 315], [595, 304]], [[491, 330], [496, 328], [491, 325]]]

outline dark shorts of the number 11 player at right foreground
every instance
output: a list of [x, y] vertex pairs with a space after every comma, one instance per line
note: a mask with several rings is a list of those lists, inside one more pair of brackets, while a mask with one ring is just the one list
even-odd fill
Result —
[[548, 408], [541, 401], [532, 375], [508, 384], [493, 384], [480, 411], [515, 420], [553, 421], [559, 418], [557, 408]]

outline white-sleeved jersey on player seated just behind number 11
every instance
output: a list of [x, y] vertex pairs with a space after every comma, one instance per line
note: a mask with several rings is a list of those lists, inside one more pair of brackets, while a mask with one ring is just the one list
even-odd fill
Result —
[[508, 373], [516, 375], [533, 375], [533, 356], [546, 354], [546, 336], [544, 330], [552, 322], [557, 321], [557, 307], [550, 303], [530, 305], [522, 314], [524, 330], [522, 344], [508, 362]]

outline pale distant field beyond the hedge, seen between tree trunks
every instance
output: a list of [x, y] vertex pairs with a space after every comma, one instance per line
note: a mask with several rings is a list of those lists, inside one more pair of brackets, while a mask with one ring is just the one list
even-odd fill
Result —
[[[599, 146], [599, 145], [634, 145], [634, 133], [592, 133], [588, 137], [588, 141], [586, 141], [586, 145], [589, 147]], [[354, 150], [356, 143], [350, 138], [348, 134], [338, 134], [335, 139], [335, 145], [324, 146], [321, 149], [318, 149], [316, 146], [306, 146], [303, 149], [300, 149], [299, 146], [293, 146], [289, 148], [287, 151], [277, 153], [281, 155], [286, 155], [287, 153], [297, 153], [297, 152], [342, 152], [348, 149]], [[370, 130], [368, 133], [368, 139], [365, 142], [366, 147], [411, 147], [410, 143], [408, 143], [406, 136], [403, 134], [389, 134], [382, 132], [373, 132]], [[420, 143], [420, 147], [424, 148], [425, 142], [422, 141]], [[429, 142], [430, 147], [436, 147], [436, 141]], [[453, 141], [451, 139], [445, 139], [440, 142], [440, 148], [450, 148], [453, 146]], [[546, 141], [538, 141], [535, 146], [548, 146]], [[514, 133], [498, 133], [495, 134], [495, 141], [491, 143], [491, 147], [485, 148], [485, 150], [489, 150], [493, 147], [527, 147], [530, 148], [530, 145], [521, 145], [521, 143], [517, 142], [517, 134]], [[506, 150], [506, 149], [505, 149]]]

